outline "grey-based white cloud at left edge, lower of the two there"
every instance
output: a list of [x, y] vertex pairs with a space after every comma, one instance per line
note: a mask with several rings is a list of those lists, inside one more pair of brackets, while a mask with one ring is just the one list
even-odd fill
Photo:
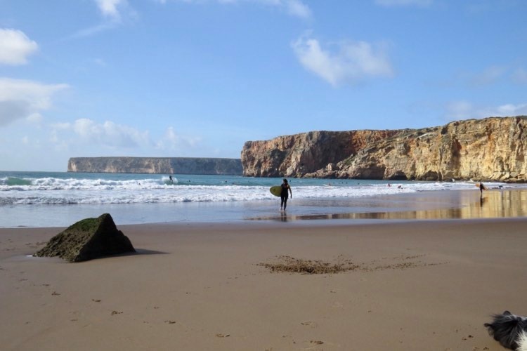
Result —
[[40, 112], [51, 107], [51, 98], [67, 84], [46, 85], [36, 81], [0, 78], [0, 126], [17, 119], [39, 121]]

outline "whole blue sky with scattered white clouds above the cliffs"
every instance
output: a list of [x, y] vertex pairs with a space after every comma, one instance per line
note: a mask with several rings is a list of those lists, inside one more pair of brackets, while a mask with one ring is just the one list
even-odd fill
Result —
[[525, 0], [0, 0], [0, 170], [527, 114]]

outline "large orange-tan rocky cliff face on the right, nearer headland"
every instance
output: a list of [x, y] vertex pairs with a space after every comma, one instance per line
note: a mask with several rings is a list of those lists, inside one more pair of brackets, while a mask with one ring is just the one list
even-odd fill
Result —
[[242, 150], [244, 176], [527, 181], [527, 117], [394, 131], [318, 131]]

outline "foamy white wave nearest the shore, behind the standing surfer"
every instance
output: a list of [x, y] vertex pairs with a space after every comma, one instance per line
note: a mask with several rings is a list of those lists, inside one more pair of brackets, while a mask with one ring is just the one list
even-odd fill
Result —
[[[228, 202], [276, 199], [263, 186], [239, 185], [167, 185], [119, 184], [119, 185], [38, 185], [31, 189], [11, 187], [4, 190], [0, 204], [149, 204], [171, 202]], [[439, 184], [413, 184], [388, 187], [387, 185], [364, 186], [303, 186], [292, 187], [297, 199], [334, 199], [343, 197], [372, 197], [429, 190], [474, 189], [473, 185], [445, 186]]]

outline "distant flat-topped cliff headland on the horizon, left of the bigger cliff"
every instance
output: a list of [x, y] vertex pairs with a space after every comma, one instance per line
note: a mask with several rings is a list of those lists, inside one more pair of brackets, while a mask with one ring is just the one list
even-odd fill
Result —
[[193, 157], [72, 157], [68, 172], [242, 175], [240, 159]]

